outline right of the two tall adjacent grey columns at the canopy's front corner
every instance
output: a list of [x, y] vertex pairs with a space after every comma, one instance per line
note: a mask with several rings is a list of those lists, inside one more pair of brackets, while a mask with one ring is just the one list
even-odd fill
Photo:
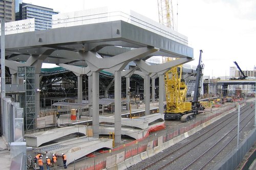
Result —
[[121, 142], [121, 71], [115, 71], [115, 142]]

